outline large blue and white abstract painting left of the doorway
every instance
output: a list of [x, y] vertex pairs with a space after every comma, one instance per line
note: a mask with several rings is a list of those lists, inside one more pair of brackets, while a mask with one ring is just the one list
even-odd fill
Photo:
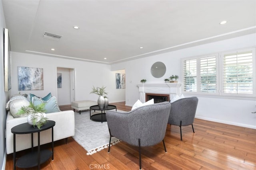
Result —
[[44, 90], [43, 68], [18, 67], [18, 90]]

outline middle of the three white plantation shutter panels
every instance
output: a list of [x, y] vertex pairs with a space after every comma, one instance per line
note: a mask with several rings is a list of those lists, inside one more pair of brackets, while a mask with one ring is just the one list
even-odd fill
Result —
[[200, 91], [216, 92], [216, 56], [200, 59]]

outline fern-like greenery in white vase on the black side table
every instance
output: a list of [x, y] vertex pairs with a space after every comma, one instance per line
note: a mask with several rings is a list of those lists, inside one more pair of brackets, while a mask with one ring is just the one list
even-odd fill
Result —
[[34, 106], [34, 104], [30, 102], [29, 106], [22, 106], [17, 114], [28, 114], [28, 119], [32, 122], [32, 125], [40, 129], [40, 127], [47, 123], [47, 117], [44, 116], [44, 112], [46, 111], [44, 106], [44, 103]]

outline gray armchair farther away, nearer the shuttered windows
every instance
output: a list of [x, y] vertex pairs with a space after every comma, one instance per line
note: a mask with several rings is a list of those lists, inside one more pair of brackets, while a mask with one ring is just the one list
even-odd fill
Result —
[[168, 124], [177, 125], [180, 127], [180, 140], [182, 141], [182, 126], [192, 125], [193, 132], [194, 119], [198, 104], [197, 97], [182, 98], [171, 103], [171, 111], [168, 119]]

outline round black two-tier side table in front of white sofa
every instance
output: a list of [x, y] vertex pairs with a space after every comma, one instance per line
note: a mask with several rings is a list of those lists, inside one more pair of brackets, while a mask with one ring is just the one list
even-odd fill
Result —
[[[16, 170], [16, 165], [19, 168], [31, 168], [38, 166], [40, 170], [40, 164], [46, 162], [51, 156], [53, 158], [53, 127], [55, 126], [55, 121], [48, 120], [45, 125], [38, 129], [36, 126], [30, 125], [28, 123], [22, 123], [20, 125], [14, 126], [11, 129], [13, 133], [13, 168]], [[52, 128], [52, 151], [50, 150], [40, 150], [40, 132]], [[28, 134], [31, 133], [31, 150], [32, 152], [25, 154], [20, 157], [16, 162], [16, 134]], [[33, 133], [38, 133], [38, 151], [34, 152], [33, 148]], [[20, 141], [22, 142], [22, 141]]]

